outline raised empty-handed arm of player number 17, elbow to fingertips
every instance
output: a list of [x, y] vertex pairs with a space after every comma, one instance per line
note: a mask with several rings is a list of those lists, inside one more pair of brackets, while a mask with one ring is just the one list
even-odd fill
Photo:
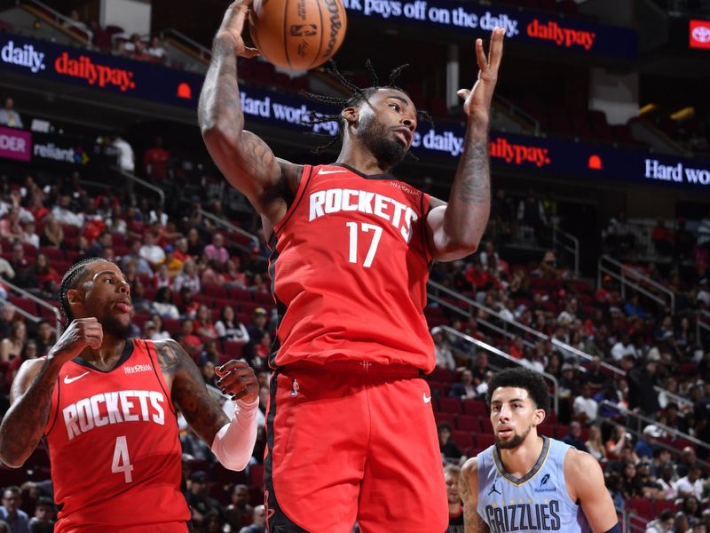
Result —
[[467, 115], [463, 154], [456, 170], [447, 205], [434, 207], [427, 217], [427, 229], [434, 259], [464, 258], [480, 243], [491, 211], [491, 171], [488, 156], [488, 127], [491, 100], [503, 55], [505, 30], [493, 29], [491, 49], [485, 57], [483, 41], [476, 41], [478, 80], [472, 90], [461, 89]]

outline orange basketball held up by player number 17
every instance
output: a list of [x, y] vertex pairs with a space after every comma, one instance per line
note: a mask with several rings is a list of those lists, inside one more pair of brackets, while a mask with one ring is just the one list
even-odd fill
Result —
[[319, 67], [332, 58], [347, 26], [342, 0], [255, 0], [249, 13], [256, 48], [289, 70]]

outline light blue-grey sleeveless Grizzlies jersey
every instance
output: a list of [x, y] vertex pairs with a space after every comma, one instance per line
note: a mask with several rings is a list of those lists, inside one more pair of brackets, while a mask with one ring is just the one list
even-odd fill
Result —
[[477, 511], [491, 533], [591, 531], [564, 483], [564, 456], [571, 447], [548, 437], [542, 439], [537, 463], [520, 479], [503, 469], [495, 445], [478, 454]]

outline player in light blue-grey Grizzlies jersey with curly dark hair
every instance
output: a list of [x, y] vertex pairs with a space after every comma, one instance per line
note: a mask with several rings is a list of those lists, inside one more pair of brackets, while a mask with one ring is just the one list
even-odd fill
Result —
[[488, 391], [495, 444], [470, 458], [459, 478], [466, 533], [620, 533], [596, 459], [537, 433], [549, 410], [544, 378], [503, 370]]

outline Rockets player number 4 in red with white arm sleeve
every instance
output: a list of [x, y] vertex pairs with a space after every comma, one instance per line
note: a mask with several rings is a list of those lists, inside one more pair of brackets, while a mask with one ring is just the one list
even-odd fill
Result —
[[128, 338], [130, 287], [104, 259], [71, 267], [59, 301], [67, 330], [20, 367], [0, 459], [19, 467], [46, 436], [60, 533], [187, 531], [176, 408], [223, 465], [242, 470], [256, 441], [254, 371], [238, 361], [219, 370], [238, 406], [229, 420], [177, 342]]

